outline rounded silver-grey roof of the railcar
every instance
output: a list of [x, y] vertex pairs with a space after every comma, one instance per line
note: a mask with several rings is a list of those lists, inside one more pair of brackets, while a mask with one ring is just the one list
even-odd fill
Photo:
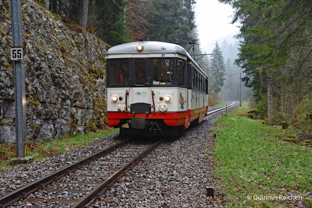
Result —
[[[146, 53], [180, 53], [188, 56], [190, 60], [206, 75], [202, 68], [196, 63], [196, 61], [185, 51], [181, 46], [172, 43], [158, 42], [158, 41], [144, 41], [144, 50], [142, 52], [137, 51], [136, 46], [142, 42], [130, 42], [121, 45], [111, 47], [106, 55], [110, 54], [146, 54]], [[206, 75], [207, 76], [207, 75]]]

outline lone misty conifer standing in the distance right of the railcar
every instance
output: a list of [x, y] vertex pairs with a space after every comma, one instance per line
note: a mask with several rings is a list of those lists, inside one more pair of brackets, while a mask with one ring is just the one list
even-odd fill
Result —
[[216, 47], [212, 51], [211, 58], [212, 90], [218, 94], [224, 85], [225, 64], [221, 48], [216, 42]]

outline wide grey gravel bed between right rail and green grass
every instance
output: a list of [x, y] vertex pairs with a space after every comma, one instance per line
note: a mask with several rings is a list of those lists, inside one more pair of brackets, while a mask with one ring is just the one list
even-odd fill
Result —
[[224, 194], [214, 187], [214, 139], [209, 131], [221, 113], [208, 116], [179, 139], [163, 143], [102, 196], [93, 207], [220, 207]]

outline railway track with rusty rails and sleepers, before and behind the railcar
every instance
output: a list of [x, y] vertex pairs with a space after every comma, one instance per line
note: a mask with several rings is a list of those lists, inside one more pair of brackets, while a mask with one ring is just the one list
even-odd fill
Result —
[[[227, 106], [210, 110], [208, 115], [235, 104], [232, 102]], [[21, 204], [17, 202], [14, 206], [38, 202], [40, 203], [38, 207], [42, 203], [55, 203], [55, 206], [66, 204], [66, 206], [72, 205], [71, 207], [89, 207], [95, 201], [110, 201], [110, 199], [101, 199], [105, 191], [157, 148], [161, 142], [158, 140], [154, 143], [138, 144], [125, 140], [117, 143], [2, 196], [0, 208], [10, 206], [17, 201]]]

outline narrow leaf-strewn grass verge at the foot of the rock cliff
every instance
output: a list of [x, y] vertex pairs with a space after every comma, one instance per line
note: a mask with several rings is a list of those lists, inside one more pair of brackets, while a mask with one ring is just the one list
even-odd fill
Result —
[[[28, 142], [27, 156], [33, 157], [35, 161], [41, 161], [48, 157], [64, 154], [76, 147], [86, 147], [97, 138], [104, 138], [118, 133], [119, 128], [108, 128], [96, 133], [65, 135], [53, 141]], [[16, 157], [15, 144], [0, 143], [0, 171], [5, 171], [10, 166], [10, 160]]]

